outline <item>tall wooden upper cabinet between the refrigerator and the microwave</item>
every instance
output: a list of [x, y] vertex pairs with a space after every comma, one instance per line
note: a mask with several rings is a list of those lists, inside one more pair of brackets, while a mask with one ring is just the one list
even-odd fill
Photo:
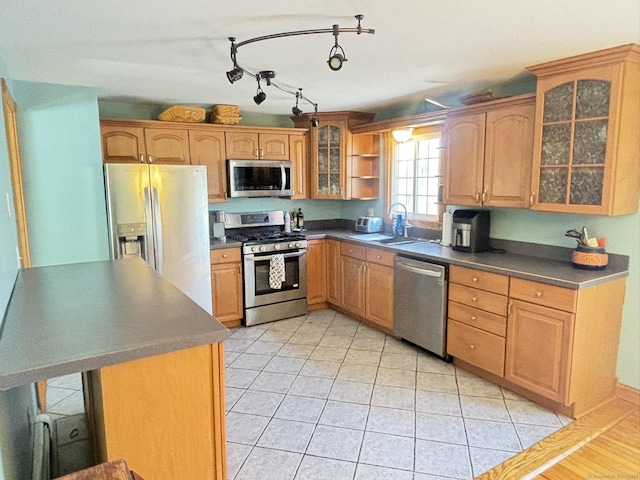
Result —
[[193, 165], [207, 167], [209, 202], [227, 199], [227, 166], [224, 132], [189, 131], [189, 151]]

